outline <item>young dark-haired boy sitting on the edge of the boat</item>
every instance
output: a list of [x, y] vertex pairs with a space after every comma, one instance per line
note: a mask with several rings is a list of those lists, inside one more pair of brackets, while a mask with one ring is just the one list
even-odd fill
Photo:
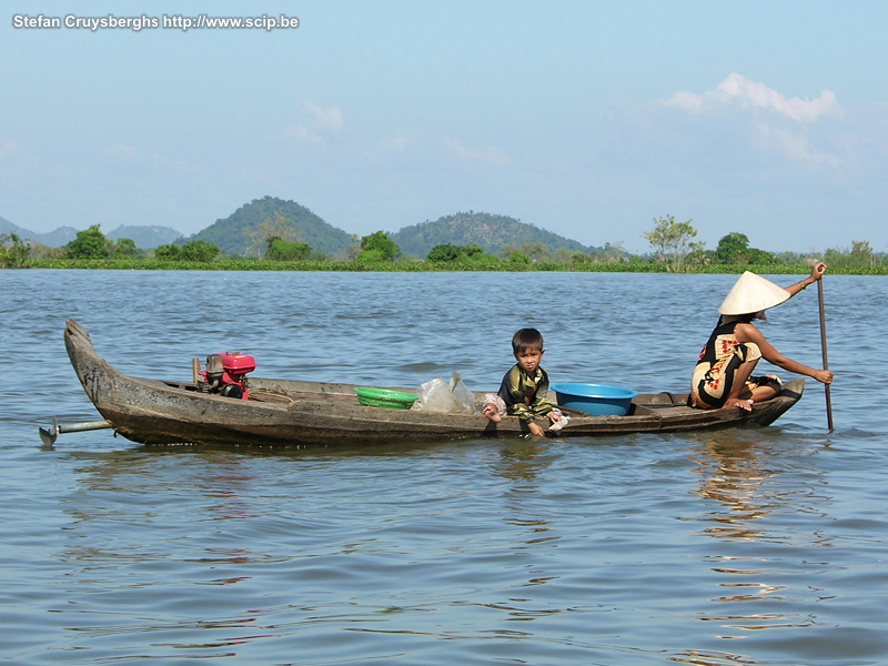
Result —
[[505, 374], [500, 393], [488, 393], [482, 410], [491, 421], [498, 423], [508, 413], [521, 420], [532, 435], [539, 436], [543, 428], [537, 416], [547, 416], [556, 424], [562, 413], [548, 401], [548, 374], [539, 367], [545, 350], [543, 335], [536, 329], [522, 329], [512, 336], [512, 353], [517, 363]]

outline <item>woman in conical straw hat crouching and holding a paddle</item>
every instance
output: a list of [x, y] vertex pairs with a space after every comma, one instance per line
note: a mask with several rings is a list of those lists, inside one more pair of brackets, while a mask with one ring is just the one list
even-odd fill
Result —
[[766, 310], [788, 301], [820, 280], [825, 272], [826, 264], [817, 263], [809, 278], [786, 289], [749, 271], [740, 275], [718, 309], [722, 317], [700, 352], [688, 404], [702, 410], [751, 410], [754, 403], [774, 397], [780, 392], [780, 377], [753, 376], [753, 370], [763, 357], [786, 371], [831, 384], [831, 372], [787, 359], [753, 325], [754, 320], [765, 319]]

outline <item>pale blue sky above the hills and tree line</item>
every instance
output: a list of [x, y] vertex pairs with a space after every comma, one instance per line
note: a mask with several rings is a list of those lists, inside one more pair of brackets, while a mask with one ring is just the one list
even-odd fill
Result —
[[[460, 211], [649, 249], [888, 251], [888, 3], [4, 3], [0, 216], [186, 234], [264, 195], [350, 233]], [[13, 17], [297, 17], [266, 31]]]

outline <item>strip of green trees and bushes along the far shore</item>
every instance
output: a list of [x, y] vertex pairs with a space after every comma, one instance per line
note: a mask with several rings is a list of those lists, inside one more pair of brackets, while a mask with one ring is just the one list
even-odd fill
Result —
[[[504, 245], [498, 255], [485, 252], [477, 244], [456, 245], [438, 243], [425, 258], [404, 255], [394, 240], [384, 231], [365, 236], [353, 235], [352, 244], [341, 256], [330, 258], [313, 249], [300, 238], [292, 220], [274, 213], [262, 224], [246, 232], [246, 255], [231, 256], [205, 241], [168, 243], [151, 251], [137, 248], [131, 239], [108, 239], [100, 225], [94, 224], [77, 233], [77, 238], [64, 248], [36, 249], [17, 234], [0, 235], [0, 266], [27, 268], [34, 259], [60, 261], [154, 261], [160, 264], [188, 263], [211, 264], [221, 260], [259, 261], [268, 263], [300, 262], [349, 262], [355, 264], [385, 264], [397, 262], [425, 262], [437, 266], [465, 266], [484, 270], [500, 268], [532, 269], [558, 264], [562, 266], [588, 266], [588, 264], [632, 264], [642, 269], [643, 264], [660, 264], [668, 272], [698, 271], [706, 266], [779, 266], [806, 263], [809, 258], [795, 252], [773, 253], [749, 245], [749, 238], [740, 232], [724, 235], [714, 250], [707, 250], [705, 242], [696, 242], [697, 230], [693, 220], [676, 222], [674, 215], [654, 219], [654, 228], [643, 233], [650, 244], [652, 252], [636, 255], [627, 252], [623, 243], [605, 243], [604, 248], [587, 253], [561, 248], [551, 251], [539, 242], [522, 245]], [[834, 268], [881, 269], [884, 254], [876, 253], [869, 241], [852, 241], [846, 250], [827, 250], [823, 259]], [[629, 270], [632, 270], [632, 266]]]

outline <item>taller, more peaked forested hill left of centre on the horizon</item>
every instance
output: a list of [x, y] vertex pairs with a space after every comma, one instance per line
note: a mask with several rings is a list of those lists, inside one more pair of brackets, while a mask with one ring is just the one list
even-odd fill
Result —
[[205, 241], [213, 243], [229, 254], [246, 252], [248, 239], [244, 231], [258, 228], [265, 220], [273, 220], [274, 213], [292, 220], [302, 242], [314, 250], [335, 255], [352, 244], [352, 236], [341, 229], [324, 222], [309, 209], [295, 201], [284, 201], [273, 196], [254, 199], [242, 205], [223, 220], [216, 220], [203, 231], [186, 239], [188, 241]]

